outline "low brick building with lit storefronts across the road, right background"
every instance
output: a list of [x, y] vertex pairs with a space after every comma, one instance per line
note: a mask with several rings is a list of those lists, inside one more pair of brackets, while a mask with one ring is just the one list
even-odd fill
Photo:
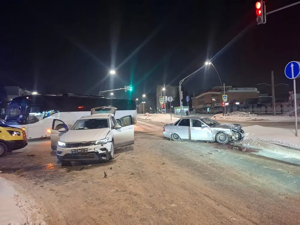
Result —
[[[193, 98], [193, 107], [196, 113], [219, 113], [223, 110], [223, 92], [220, 86], [213, 87], [204, 93]], [[259, 91], [257, 88], [232, 88], [225, 86], [227, 95], [226, 110], [236, 111], [238, 105], [244, 105], [247, 99], [258, 99]], [[236, 108], [236, 109], [233, 109]]]

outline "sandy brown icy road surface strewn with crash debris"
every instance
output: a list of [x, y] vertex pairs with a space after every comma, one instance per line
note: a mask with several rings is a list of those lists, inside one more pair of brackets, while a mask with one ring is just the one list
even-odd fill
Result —
[[[0, 159], [48, 224], [299, 224], [300, 168], [217, 144], [173, 142], [139, 122], [107, 164], [61, 167], [49, 141]], [[104, 178], [104, 171], [108, 177]]]

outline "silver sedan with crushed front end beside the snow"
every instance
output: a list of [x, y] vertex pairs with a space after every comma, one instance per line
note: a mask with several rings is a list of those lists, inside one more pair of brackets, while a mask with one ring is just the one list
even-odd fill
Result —
[[163, 135], [170, 140], [199, 140], [205, 142], [241, 141], [245, 134], [239, 124], [220, 124], [208, 117], [188, 117], [164, 125]]

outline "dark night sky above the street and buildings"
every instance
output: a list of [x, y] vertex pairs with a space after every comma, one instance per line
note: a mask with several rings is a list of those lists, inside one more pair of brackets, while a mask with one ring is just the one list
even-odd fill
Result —
[[[124, 90], [114, 96], [140, 98], [157, 85], [178, 85], [213, 58], [226, 85], [271, 83], [274, 70], [275, 84], [292, 89], [284, 67], [300, 61], [300, 4], [257, 25], [255, 2], [1, 1], [1, 84], [97, 95], [112, 68], [116, 75], [102, 89], [132, 84], [132, 96]], [[266, 9], [293, 2], [266, 0]], [[209, 68], [183, 85], [197, 94], [219, 84]]]

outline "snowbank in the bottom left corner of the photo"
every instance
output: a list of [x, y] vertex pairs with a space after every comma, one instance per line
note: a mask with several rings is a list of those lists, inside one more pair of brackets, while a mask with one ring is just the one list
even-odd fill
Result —
[[[41, 215], [38, 215], [39, 210], [35, 208], [35, 204], [24, 200], [13, 188], [13, 185], [2, 177], [0, 177], [0, 202], [1, 225], [46, 224], [46, 222], [41, 219]], [[35, 222], [33, 222], [33, 217], [36, 217], [36, 215], [40, 218], [38, 220], [35, 218]]]

